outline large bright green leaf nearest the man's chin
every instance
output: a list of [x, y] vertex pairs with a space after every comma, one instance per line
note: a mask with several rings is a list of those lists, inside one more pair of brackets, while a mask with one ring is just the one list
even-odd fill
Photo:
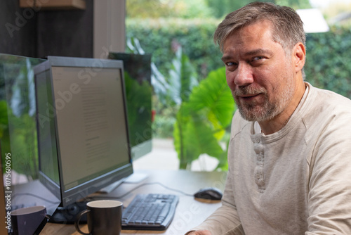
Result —
[[187, 168], [199, 155], [218, 158], [218, 167], [225, 167], [226, 150], [220, 147], [234, 113], [234, 100], [225, 79], [225, 68], [211, 72], [190, 99], [183, 102], [174, 126], [174, 145], [180, 168]]

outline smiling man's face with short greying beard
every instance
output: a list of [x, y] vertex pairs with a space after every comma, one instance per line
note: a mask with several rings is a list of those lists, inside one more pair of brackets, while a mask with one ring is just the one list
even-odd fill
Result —
[[291, 57], [272, 40], [272, 23], [243, 27], [225, 40], [227, 84], [241, 116], [267, 121], [282, 113], [296, 89]]

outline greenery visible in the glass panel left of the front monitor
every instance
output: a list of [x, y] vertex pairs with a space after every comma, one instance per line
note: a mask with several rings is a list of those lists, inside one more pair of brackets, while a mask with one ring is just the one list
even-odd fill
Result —
[[39, 167], [33, 68], [43, 61], [0, 53], [1, 155], [11, 153], [11, 170], [29, 179]]

